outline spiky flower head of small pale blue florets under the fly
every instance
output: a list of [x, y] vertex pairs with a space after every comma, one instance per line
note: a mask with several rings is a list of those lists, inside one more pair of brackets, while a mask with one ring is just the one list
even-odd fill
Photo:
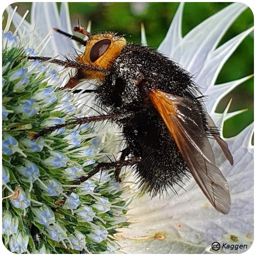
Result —
[[[24, 58], [41, 54], [47, 37], [40, 46], [34, 38], [25, 42], [27, 34], [18, 37], [8, 31], [15, 15], [9, 11], [2, 41], [3, 243], [13, 253], [117, 250], [113, 234], [126, 225], [126, 190], [111, 180], [111, 173], [103, 171], [102, 179], [95, 176], [69, 196], [65, 193], [96, 161], [106, 158], [110, 151], [104, 148], [115, 142], [106, 142], [106, 134], [89, 125], [32, 140], [42, 127], [87, 113], [75, 103], [76, 96], [58, 89], [67, 71]], [[61, 208], [56, 202], [62, 198], [66, 202]], [[122, 212], [119, 216], [116, 209]]]

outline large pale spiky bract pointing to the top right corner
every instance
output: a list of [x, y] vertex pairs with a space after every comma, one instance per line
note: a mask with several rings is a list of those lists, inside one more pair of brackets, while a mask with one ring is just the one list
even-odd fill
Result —
[[178, 60], [190, 73], [200, 72], [208, 54], [214, 51], [227, 29], [246, 8], [243, 3], [228, 5], [187, 33], [172, 52], [166, 54]]

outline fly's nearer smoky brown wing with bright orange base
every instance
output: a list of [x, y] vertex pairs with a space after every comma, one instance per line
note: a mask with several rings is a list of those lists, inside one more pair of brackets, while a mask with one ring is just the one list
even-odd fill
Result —
[[228, 183], [215, 166], [212, 147], [195, 104], [156, 89], [149, 96], [204, 195], [217, 211], [227, 214], [230, 210]]

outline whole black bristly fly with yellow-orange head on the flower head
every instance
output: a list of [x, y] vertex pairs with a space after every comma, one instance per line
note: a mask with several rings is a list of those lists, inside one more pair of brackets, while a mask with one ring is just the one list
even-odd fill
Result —
[[[99, 163], [75, 185], [99, 171], [112, 168], [115, 179], [120, 181], [120, 169], [135, 166], [142, 192], [155, 196], [167, 188], [175, 193], [173, 186], [183, 183], [184, 177], [191, 174], [213, 207], [227, 214], [230, 209], [228, 183], [215, 166], [208, 137], [218, 142], [231, 165], [233, 159], [205, 110], [202, 96], [198, 97], [199, 90], [191, 74], [154, 49], [128, 44], [116, 34], [91, 35], [82, 27], [76, 27], [75, 31], [87, 36], [88, 40], [83, 41], [59, 29], [54, 30], [86, 45], [84, 54], [76, 61], [50, 61], [76, 68], [76, 74], [65, 88], [94, 79], [95, 88], [85, 92], [94, 92], [95, 103], [108, 110], [108, 114], [48, 127], [33, 134], [33, 139], [68, 125], [112, 120], [122, 128], [126, 141], [118, 161]], [[45, 57], [28, 59], [49, 60]], [[64, 202], [65, 199], [58, 204]]]

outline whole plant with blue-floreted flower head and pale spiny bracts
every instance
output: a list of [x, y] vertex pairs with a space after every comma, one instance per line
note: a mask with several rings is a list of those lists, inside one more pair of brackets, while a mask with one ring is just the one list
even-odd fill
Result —
[[[179, 61], [190, 73], [196, 73], [195, 82], [204, 88], [203, 94], [209, 95], [205, 102], [208, 113], [219, 126], [238, 112], [227, 114], [227, 108], [223, 115], [217, 114], [217, 104], [234, 87], [251, 77], [215, 86], [225, 61], [253, 30], [248, 29], [217, 48], [225, 31], [246, 7], [242, 3], [231, 4], [182, 38], [183, 4], [180, 4], [159, 46], [160, 51]], [[52, 14], [47, 24], [37, 13], [43, 8]], [[88, 172], [88, 166], [95, 160], [103, 158], [102, 152], [117, 152], [113, 133], [99, 137], [102, 131], [96, 128], [91, 131], [88, 126], [81, 130], [71, 127], [53, 132], [49, 139], [31, 141], [26, 132], [62, 123], [70, 115], [78, 117], [82, 110], [81, 105], [73, 107], [71, 95], [66, 94], [63, 99], [63, 93], [56, 89], [61, 83], [65, 84], [67, 71], [57, 73], [37, 62], [19, 61], [19, 57], [26, 54], [49, 56], [52, 52], [56, 55], [57, 52], [73, 51], [72, 46], [77, 48], [74, 42], [63, 40], [59, 34], [54, 34], [50, 40], [49, 31], [53, 27], [72, 32], [67, 4], [61, 5], [60, 15], [57, 13], [54, 3], [33, 4], [31, 24], [15, 13], [10, 16], [3, 34], [4, 244], [16, 253], [113, 253], [118, 245], [113, 242], [112, 235], [126, 221], [124, 207], [127, 203], [119, 198], [124, 191], [111, 180], [111, 175], [95, 175], [70, 195], [62, 209], [55, 210], [54, 205], [55, 200], [65, 197], [64, 191], [73, 180]], [[11, 20], [19, 38], [8, 32]], [[35, 23], [42, 25], [40, 33], [34, 28]], [[28, 34], [25, 38], [23, 31]], [[146, 43], [145, 33], [142, 35], [142, 43]], [[27, 46], [24, 48], [24, 45]], [[221, 215], [210, 207], [194, 181], [187, 184], [188, 193], [176, 188], [179, 196], [170, 193], [170, 197], [163, 200], [151, 200], [147, 195], [137, 197], [132, 200], [129, 211], [133, 215], [131, 221], [136, 223], [130, 225], [130, 229], [123, 228], [121, 236], [115, 235], [120, 239], [118, 243], [125, 247], [124, 251], [210, 253], [214, 252], [213, 242], [239, 243], [247, 245], [248, 249], [253, 241], [252, 132], [253, 125], [250, 125], [227, 140], [234, 158], [233, 167], [213, 144], [216, 165], [230, 187], [228, 215]], [[106, 140], [108, 143], [103, 144]], [[131, 188], [130, 193], [132, 190], [137, 188]], [[23, 224], [22, 228], [18, 227], [18, 222]], [[36, 245], [32, 229], [40, 233], [40, 246]], [[241, 253], [246, 248], [240, 247], [236, 252]], [[232, 251], [224, 247], [221, 252]]]

